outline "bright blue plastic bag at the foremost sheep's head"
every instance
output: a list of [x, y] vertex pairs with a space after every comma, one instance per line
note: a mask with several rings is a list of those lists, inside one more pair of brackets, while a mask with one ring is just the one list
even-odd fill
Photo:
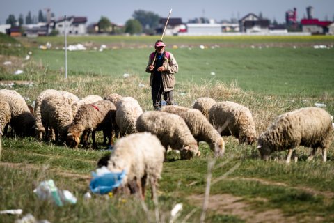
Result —
[[126, 171], [113, 173], [106, 167], [96, 169], [92, 172], [93, 179], [90, 181], [90, 190], [95, 194], [107, 194], [122, 183]]

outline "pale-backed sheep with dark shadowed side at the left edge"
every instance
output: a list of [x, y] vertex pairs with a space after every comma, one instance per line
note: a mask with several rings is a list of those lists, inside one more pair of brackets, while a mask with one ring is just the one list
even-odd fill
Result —
[[31, 114], [24, 98], [14, 90], [1, 89], [0, 95], [10, 107], [10, 126], [21, 137], [33, 136], [35, 118]]

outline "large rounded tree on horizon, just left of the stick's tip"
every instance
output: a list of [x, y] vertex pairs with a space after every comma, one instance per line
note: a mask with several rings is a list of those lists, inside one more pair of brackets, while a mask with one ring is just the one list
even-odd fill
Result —
[[135, 10], [132, 17], [141, 23], [145, 33], [156, 29], [159, 25], [159, 20], [161, 19], [156, 13], [145, 10]]

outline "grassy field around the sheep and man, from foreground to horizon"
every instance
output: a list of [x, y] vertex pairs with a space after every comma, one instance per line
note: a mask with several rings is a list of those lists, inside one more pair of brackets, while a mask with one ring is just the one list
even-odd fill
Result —
[[[70, 91], [79, 98], [119, 93], [136, 98], [143, 110], [152, 110], [145, 66], [158, 38], [69, 37], [69, 45], [82, 43], [87, 50], [67, 52], [65, 79], [63, 38], [13, 40], [0, 36], [0, 89], [15, 89], [29, 105], [45, 89]], [[324, 109], [334, 114], [333, 36], [164, 40], [180, 67], [175, 88], [179, 105], [191, 107], [203, 96], [238, 102], [252, 112], [257, 134], [278, 115], [315, 103], [326, 105]], [[47, 42], [51, 49], [38, 49]], [[102, 52], [100, 45], [106, 45]], [[315, 49], [315, 45], [326, 45], [326, 49]], [[29, 51], [31, 58], [24, 60]], [[6, 61], [11, 64], [5, 65]], [[23, 73], [13, 75], [16, 70]], [[150, 200], [148, 193], [142, 202], [125, 194], [92, 194], [91, 199], [84, 199], [91, 171], [97, 160], [109, 153], [100, 133], [96, 150], [74, 150], [32, 137], [1, 137], [0, 210], [20, 208], [23, 215], [31, 213], [49, 222], [200, 222], [201, 217], [205, 222], [334, 221], [334, 144], [325, 163], [320, 153], [307, 162], [310, 148], [299, 146], [299, 161], [287, 165], [285, 151], [273, 153], [265, 162], [260, 160], [256, 144], [239, 145], [233, 137], [224, 140], [225, 155], [218, 160], [205, 142], [200, 142], [201, 155], [193, 160], [168, 155], [158, 201]], [[38, 199], [33, 190], [49, 179], [58, 188], [70, 190], [77, 203], [58, 207]], [[209, 203], [203, 208], [206, 199]], [[170, 210], [177, 203], [183, 208], [173, 218]], [[21, 217], [0, 215], [0, 222]]]

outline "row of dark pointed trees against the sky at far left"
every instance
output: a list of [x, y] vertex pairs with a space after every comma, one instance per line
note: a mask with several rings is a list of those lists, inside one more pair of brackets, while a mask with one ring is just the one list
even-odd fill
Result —
[[11, 26], [22, 26], [23, 24], [37, 24], [38, 22], [47, 22], [47, 17], [42, 13], [42, 10], [38, 11], [38, 16], [31, 15], [29, 11], [25, 17], [21, 13], [19, 14], [19, 18], [16, 19], [15, 15], [10, 14], [6, 20], [6, 24], [10, 24]]

